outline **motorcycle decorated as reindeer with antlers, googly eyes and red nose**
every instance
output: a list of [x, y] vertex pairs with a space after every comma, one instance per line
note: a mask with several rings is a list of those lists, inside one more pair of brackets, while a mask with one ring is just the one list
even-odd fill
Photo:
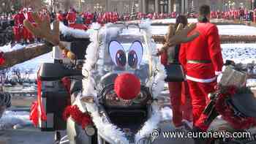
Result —
[[[39, 26], [35, 28], [29, 21], [25, 26], [56, 45], [55, 63], [39, 68], [37, 102], [31, 106], [35, 126], [55, 131], [56, 141], [59, 131], [67, 129], [72, 144], [163, 143], [151, 137], [162, 129], [158, 99], [166, 74], [155, 56], [162, 50], [157, 52], [151, 39], [149, 21], [139, 25], [95, 23], [81, 32], [58, 22], [51, 30], [47, 20], [33, 17]], [[187, 37], [194, 28], [179, 29], [164, 48], [194, 39], [197, 34]], [[78, 39], [63, 42], [59, 31], [64, 37]], [[166, 127], [170, 125], [169, 121]]]

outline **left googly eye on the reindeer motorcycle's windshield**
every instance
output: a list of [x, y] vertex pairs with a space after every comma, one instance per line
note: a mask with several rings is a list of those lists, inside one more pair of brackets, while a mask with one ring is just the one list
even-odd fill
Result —
[[108, 50], [113, 63], [115, 63], [117, 67], [125, 67], [127, 64], [127, 57], [123, 46], [116, 40], [113, 40], [110, 41]]

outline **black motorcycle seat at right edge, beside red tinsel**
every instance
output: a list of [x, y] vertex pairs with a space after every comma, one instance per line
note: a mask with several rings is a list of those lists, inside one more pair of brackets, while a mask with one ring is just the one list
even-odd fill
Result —
[[256, 118], [256, 96], [252, 92], [248, 92], [248, 94], [235, 94], [231, 102], [244, 115]]

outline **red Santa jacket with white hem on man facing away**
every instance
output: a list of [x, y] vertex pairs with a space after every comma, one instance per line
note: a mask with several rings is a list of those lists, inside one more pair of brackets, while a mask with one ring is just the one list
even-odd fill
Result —
[[199, 31], [200, 36], [181, 45], [179, 61], [187, 71], [188, 80], [210, 83], [222, 72], [219, 32], [212, 23], [197, 23], [194, 31]]

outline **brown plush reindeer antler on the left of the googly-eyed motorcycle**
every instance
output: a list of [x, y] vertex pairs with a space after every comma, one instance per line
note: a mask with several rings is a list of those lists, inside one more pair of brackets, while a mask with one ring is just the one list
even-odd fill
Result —
[[59, 39], [59, 20], [53, 22], [53, 30], [50, 29], [50, 19], [48, 15], [43, 15], [42, 18], [39, 18], [37, 12], [33, 12], [32, 18], [34, 19], [37, 26], [33, 26], [29, 20], [24, 20], [24, 26], [31, 31], [36, 37], [44, 38], [46, 41], [50, 42], [53, 45], [58, 45], [61, 50], [67, 55], [70, 59], [75, 59], [75, 54], [67, 49]]

